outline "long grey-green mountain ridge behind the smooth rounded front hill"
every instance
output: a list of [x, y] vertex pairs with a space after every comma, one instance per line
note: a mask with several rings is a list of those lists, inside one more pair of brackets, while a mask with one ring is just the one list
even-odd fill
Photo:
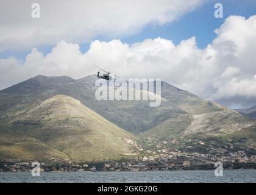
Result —
[[[97, 87], [94, 86], [96, 79], [95, 76], [77, 80], [69, 77], [36, 76], [13, 85], [0, 91], [0, 120], [10, 121], [40, 102], [63, 94], [79, 100], [108, 121], [132, 133], [158, 132], [159, 129], [166, 132], [157, 133], [162, 137], [211, 131], [227, 133], [227, 129], [240, 130], [254, 124], [253, 120], [236, 111], [205, 101], [166, 82], [161, 85], [162, 103], [159, 107], [149, 107], [149, 101], [97, 101]], [[20, 89], [23, 89], [22, 93]], [[180, 120], [181, 124], [176, 124]], [[234, 129], [235, 126], [239, 128]], [[177, 131], [180, 133], [177, 134]]]

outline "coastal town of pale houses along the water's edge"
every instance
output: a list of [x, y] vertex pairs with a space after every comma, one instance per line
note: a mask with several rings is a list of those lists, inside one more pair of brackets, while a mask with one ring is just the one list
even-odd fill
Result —
[[[144, 151], [143, 156], [132, 160], [100, 161], [90, 163], [74, 163], [59, 161], [52, 158], [48, 162], [40, 162], [43, 171], [171, 171], [193, 169], [215, 169], [215, 162], [223, 164], [224, 169], [256, 168], [256, 155], [250, 157], [244, 151], [227, 152], [225, 149], [215, 149], [209, 154], [181, 151]], [[148, 155], [146, 155], [148, 154]], [[32, 161], [0, 162], [0, 171], [30, 171]]]

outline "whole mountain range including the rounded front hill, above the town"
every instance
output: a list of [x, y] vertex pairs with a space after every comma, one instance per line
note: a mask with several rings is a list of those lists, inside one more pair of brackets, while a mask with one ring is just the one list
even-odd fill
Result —
[[[212, 146], [214, 139], [218, 143], [216, 147], [227, 147], [232, 143], [237, 150], [241, 147], [256, 148], [256, 122], [240, 112], [215, 102], [205, 101], [166, 82], [161, 83], [162, 103], [159, 107], [149, 107], [148, 100], [97, 101], [95, 98], [97, 87], [94, 86], [96, 79], [95, 76], [77, 80], [70, 77], [36, 76], [6, 88], [0, 91], [0, 123], [18, 133], [24, 133], [25, 131], [20, 132], [20, 129], [26, 126], [24, 136], [37, 139], [51, 149], [57, 150], [60, 152], [59, 156], [68, 155], [69, 158], [76, 160], [119, 158], [123, 153], [136, 152], [136, 148], [127, 145], [127, 142], [133, 143], [133, 141], [137, 141], [143, 147], [156, 147], [161, 141], [166, 141], [166, 147], [169, 149], [180, 150], [193, 145], [196, 151], [206, 147], [197, 147], [198, 144], [193, 140], [200, 139]], [[63, 98], [67, 96], [68, 98]], [[69, 101], [69, 98], [73, 101]], [[97, 117], [93, 120], [88, 118], [89, 115], [97, 115]], [[91, 131], [95, 134], [91, 137], [87, 135], [90, 132], [86, 131], [93, 128], [90, 121], [94, 123], [98, 121]], [[115, 124], [115, 132], [118, 132], [116, 134], [111, 132], [110, 129], [113, 128], [110, 125], [108, 130], [104, 131], [113, 135], [112, 140], [119, 141], [117, 151], [114, 147], [115, 141], [110, 141], [110, 150], [101, 151], [101, 154], [105, 152], [108, 157], [97, 154], [98, 147], [94, 144], [88, 146], [85, 144], [98, 135], [101, 140], [97, 140], [98, 143], [101, 142], [99, 148], [107, 144], [104, 142], [105, 135], [101, 131], [103, 124], [101, 121]], [[87, 126], [85, 132], [81, 132], [85, 126]], [[80, 137], [79, 133], [85, 134]], [[127, 138], [121, 138], [120, 142], [116, 137], [122, 137], [121, 134]], [[72, 141], [65, 139], [67, 135]], [[80, 141], [77, 141], [79, 139]], [[85, 155], [82, 149], [87, 147], [90, 148], [90, 154], [96, 151], [97, 155], [93, 157], [88, 157], [89, 153]], [[112, 156], [115, 153], [118, 157]]]

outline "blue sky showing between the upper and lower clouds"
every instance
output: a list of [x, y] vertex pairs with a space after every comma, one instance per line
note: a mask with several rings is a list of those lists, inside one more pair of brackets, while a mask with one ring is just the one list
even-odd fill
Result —
[[[214, 5], [217, 2], [221, 2], [224, 8], [224, 18], [215, 18]], [[256, 1], [254, 0], [209, 0], [205, 2], [201, 7], [193, 10], [176, 21], [163, 26], [156, 26], [148, 24], [141, 32], [128, 37], [115, 37], [121, 41], [132, 44], [145, 40], [146, 38], [166, 38], [172, 40], [174, 44], [179, 44], [181, 40], [188, 39], [190, 37], [196, 37], [197, 46], [199, 48], [205, 48], [207, 44], [211, 43], [216, 37], [213, 30], [219, 28], [224, 20], [230, 15], [240, 15], [248, 18], [251, 15], [256, 14]], [[101, 41], [110, 41], [113, 39], [104, 36], [97, 37], [95, 39]], [[90, 43], [79, 43], [82, 52], [86, 52], [90, 47]], [[39, 51], [43, 54], [47, 54], [51, 51], [52, 46], [38, 46]], [[10, 56], [16, 59], [24, 59], [30, 52], [30, 49], [22, 51], [4, 51], [0, 52], [0, 59], [8, 58]]]

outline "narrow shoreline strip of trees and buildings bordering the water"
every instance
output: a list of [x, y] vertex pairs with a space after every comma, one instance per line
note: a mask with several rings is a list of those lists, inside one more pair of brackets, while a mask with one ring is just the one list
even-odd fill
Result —
[[[41, 161], [34, 165], [32, 161], [26, 162], [3, 162], [0, 161], [0, 172], [26, 172], [32, 169], [40, 169], [41, 172], [120, 172], [120, 171], [193, 171], [193, 170], [215, 170], [217, 166], [215, 161], [198, 162], [198, 161], [176, 161], [176, 163], [166, 163], [163, 161], [105, 161], [93, 163], [75, 163], [66, 161]], [[34, 165], [34, 166], [32, 166]], [[224, 162], [222, 168], [232, 169], [256, 169], [255, 162]]]

